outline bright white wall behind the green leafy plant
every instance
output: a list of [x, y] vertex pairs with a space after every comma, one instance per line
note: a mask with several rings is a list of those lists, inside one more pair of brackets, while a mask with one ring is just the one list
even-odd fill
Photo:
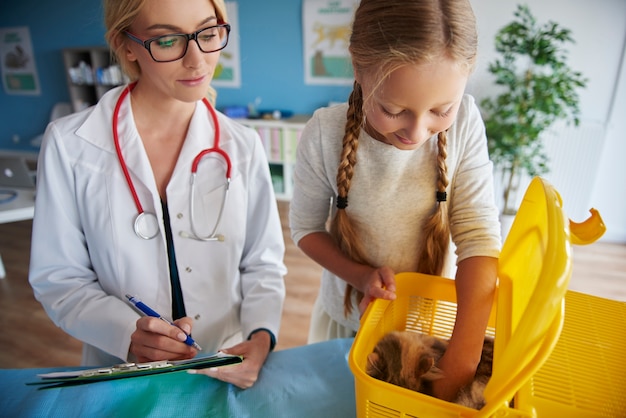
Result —
[[[496, 93], [487, 66], [496, 58], [496, 32], [514, 18], [518, 1], [470, 0], [479, 31], [479, 56], [468, 92], [479, 101]], [[572, 30], [569, 63], [588, 79], [579, 91], [581, 125], [558, 126], [546, 135], [550, 173], [544, 175], [577, 222], [598, 209], [604, 241], [626, 243], [626, 1], [527, 0], [538, 23], [555, 21]], [[528, 179], [521, 185], [525, 189]], [[520, 196], [521, 199], [521, 196]]]

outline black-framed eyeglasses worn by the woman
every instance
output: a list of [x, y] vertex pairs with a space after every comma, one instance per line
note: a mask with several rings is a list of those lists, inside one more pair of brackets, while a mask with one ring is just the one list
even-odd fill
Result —
[[222, 50], [228, 44], [229, 33], [230, 25], [228, 23], [209, 26], [194, 33], [172, 33], [170, 35], [155, 36], [145, 41], [128, 31], [124, 31], [124, 34], [129, 39], [143, 45], [156, 62], [171, 62], [181, 59], [187, 53], [189, 41], [191, 40], [196, 41], [198, 48], [204, 53]]

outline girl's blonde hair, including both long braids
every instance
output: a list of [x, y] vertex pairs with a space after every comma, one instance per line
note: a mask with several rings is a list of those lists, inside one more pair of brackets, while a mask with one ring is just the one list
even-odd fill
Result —
[[[446, 57], [465, 66], [469, 73], [476, 62], [476, 23], [467, 0], [361, 0], [352, 26], [349, 50], [355, 74], [372, 77], [377, 81], [375, 85], [405, 65], [426, 64]], [[345, 211], [357, 163], [359, 134], [364, 125], [363, 104], [361, 86], [355, 82], [337, 170], [338, 210], [331, 222], [330, 233], [344, 254], [359, 263], [372, 265], [365, 256], [356, 225]], [[449, 182], [446, 145], [446, 132], [439, 132], [438, 178], [432, 195], [436, 203], [423, 226], [426, 238], [421, 254], [417, 255], [417, 271], [426, 274], [441, 275], [450, 241], [445, 201]], [[351, 285], [347, 286], [346, 314], [352, 310], [353, 290]], [[357, 298], [362, 297], [358, 292]]]

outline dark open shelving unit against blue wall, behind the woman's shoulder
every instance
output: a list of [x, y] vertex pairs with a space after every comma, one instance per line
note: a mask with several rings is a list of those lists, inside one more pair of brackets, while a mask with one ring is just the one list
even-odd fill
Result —
[[106, 46], [64, 49], [63, 63], [75, 112], [96, 104], [108, 90], [127, 82], [119, 66], [111, 63]]

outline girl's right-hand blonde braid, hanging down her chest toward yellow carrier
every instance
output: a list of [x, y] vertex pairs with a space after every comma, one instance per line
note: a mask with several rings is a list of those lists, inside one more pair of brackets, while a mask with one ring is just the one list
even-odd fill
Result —
[[424, 248], [417, 262], [417, 271], [425, 274], [440, 276], [443, 271], [444, 260], [450, 243], [450, 224], [448, 222], [448, 204], [446, 202], [448, 187], [448, 167], [446, 165], [446, 150], [448, 137], [446, 132], [439, 132], [437, 141], [437, 207], [432, 216], [426, 220], [423, 231], [425, 233]]

